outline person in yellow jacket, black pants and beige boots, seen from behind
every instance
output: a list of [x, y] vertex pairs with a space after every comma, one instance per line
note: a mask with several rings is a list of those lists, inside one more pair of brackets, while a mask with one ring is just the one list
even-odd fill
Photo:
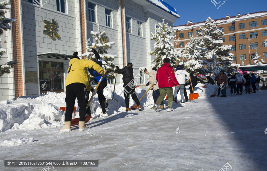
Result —
[[79, 131], [87, 129], [85, 125], [86, 117], [86, 98], [87, 91], [91, 91], [92, 86], [88, 82], [87, 68], [93, 68], [96, 72], [104, 76], [104, 69], [99, 66], [96, 62], [87, 59], [80, 59], [78, 52], [73, 53], [73, 57], [69, 61], [68, 74], [65, 81], [66, 87], [66, 112], [65, 112], [65, 126], [60, 131], [71, 131], [71, 117], [74, 109], [75, 99], [78, 100], [80, 107], [80, 121]]

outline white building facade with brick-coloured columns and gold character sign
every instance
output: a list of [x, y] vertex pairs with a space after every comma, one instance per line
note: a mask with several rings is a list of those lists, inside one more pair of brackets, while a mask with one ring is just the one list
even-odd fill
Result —
[[[6, 17], [17, 21], [1, 36], [1, 47], [8, 52], [0, 64], [18, 64], [0, 77], [0, 100], [64, 92], [69, 59], [75, 51], [82, 58], [87, 43], [93, 43], [90, 31], [96, 31], [97, 24], [106, 31], [108, 42], [115, 42], [108, 50], [117, 55], [114, 64], [123, 68], [131, 62], [134, 74], [139, 74], [139, 67], [155, 58], [148, 54], [154, 51], [151, 32], [163, 18], [169, 26], [179, 18], [162, 0], [16, 0], [11, 6]], [[121, 83], [122, 76], [116, 82]], [[143, 76], [139, 83], [146, 82]]]

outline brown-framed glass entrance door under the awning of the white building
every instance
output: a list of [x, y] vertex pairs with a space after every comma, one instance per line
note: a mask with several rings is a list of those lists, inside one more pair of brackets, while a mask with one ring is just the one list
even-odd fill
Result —
[[40, 93], [64, 92], [63, 63], [39, 61]]

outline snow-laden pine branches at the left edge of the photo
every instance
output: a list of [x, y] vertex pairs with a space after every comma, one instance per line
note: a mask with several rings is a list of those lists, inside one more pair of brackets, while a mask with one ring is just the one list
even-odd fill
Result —
[[[14, 18], [5, 17], [5, 14], [7, 13], [7, 9], [11, 9], [9, 0], [0, 2], [0, 35], [3, 34], [3, 30], [11, 29], [11, 26], [9, 25], [9, 23], [16, 22], [16, 19]], [[0, 57], [4, 53], [7, 53], [7, 49], [0, 47]], [[4, 65], [0, 65], [0, 77], [4, 75], [5, 73], [10, 73], [9, 69], [13, 68], [14, 64], [16, 63], [17, 61], [9, 61]]]

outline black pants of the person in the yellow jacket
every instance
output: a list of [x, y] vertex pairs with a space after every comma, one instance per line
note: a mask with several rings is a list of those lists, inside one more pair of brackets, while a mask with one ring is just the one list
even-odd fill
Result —
[[75, 99], [78, 100], [80, 110], [80, 121], [85, 121], [86, 117], [86, 97], [87, 97], [86, 86], [82, 83], [72, 83], [66, 86], [66, 112], [65, 121], [71, 121], [72, 111], [74, 109]]

